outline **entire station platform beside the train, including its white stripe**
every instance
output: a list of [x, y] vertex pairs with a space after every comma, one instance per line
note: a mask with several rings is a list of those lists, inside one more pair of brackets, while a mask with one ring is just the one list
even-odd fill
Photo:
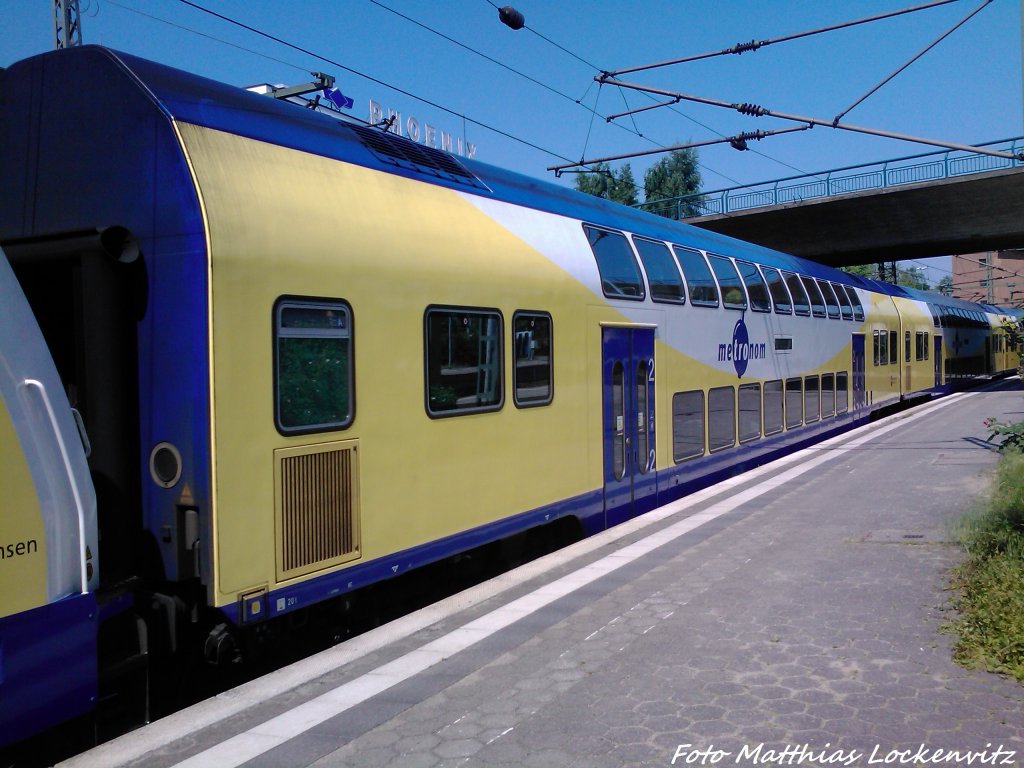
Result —
[[940, 629], [982, 421], [1022, 414], [889, 417], [62, 765], [1024, 765], [1024, 686]]

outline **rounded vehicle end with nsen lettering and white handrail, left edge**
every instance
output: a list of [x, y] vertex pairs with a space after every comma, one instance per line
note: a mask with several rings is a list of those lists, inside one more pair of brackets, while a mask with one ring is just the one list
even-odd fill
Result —
[[0, 733], [96, 701], [96, 499], [63, 387], [0, 252]]

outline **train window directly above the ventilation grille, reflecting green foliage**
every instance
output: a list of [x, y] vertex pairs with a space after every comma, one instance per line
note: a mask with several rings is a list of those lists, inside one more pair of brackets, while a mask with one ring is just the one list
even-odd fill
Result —
[[352, 423], [352, 315], [342, 301], [279, 299], [273, 307], [274, 421], [282, 434]]

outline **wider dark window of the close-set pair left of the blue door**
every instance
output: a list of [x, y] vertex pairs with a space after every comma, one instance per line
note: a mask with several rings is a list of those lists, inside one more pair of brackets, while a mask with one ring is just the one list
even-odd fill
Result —
[[502, 315], [496, 310], [427, 308], [424, 348], [429, 416], [501, 409], [502, 333]]

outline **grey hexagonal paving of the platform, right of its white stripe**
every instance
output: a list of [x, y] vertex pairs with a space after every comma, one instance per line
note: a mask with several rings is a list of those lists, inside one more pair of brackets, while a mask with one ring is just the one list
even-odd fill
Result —
[[978, 395], [663, 548], [312, 764], [1024, 765], [1024, 687], [956, 667], [940, 632], [947, 522], [994, 462], [981, 419], [1011, 402]]

